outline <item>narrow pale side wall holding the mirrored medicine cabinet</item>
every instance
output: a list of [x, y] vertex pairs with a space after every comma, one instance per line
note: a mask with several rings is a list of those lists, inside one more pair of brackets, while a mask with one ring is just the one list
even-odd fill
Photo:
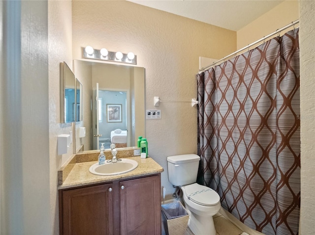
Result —
[[[49, 151], [50, 156], [50, 174], [49, 172], [46, 174], [50, 176], [50, 198], [46, 199], [46, 203], [50, 202], [51, 231], [42, 234], [59, 234], [57, 171], [71, 157], [73, 150], [73, 144], [71, 144], [67, 154], [59, 156], [57, 152], [57, 136], [69, 134], [73, 130], [71, 124], [60, 123], [59, 66], [60, 62], [65, 61], [72, 69], [71, 32], [71, 1], [48, 1], [49, 149], [46, 151]], [[37, 221], [36, 226], [39, 224]]]

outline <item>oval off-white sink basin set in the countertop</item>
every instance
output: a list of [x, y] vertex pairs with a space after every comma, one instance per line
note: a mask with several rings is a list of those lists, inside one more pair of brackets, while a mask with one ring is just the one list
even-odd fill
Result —
[[138, 162], [128, 158], [120, 158], [121, 161], [106, 162], [99, 165], [98, 162], [90, 167], [90, 172], [98, 176], [120, 175], [134, 170], [138, 166]]

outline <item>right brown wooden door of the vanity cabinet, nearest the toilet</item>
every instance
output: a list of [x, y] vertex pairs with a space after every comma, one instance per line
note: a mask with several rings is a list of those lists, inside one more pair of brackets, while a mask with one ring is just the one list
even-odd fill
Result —
[[120, 182], [121, 235], [161, 234], [160, 175]]

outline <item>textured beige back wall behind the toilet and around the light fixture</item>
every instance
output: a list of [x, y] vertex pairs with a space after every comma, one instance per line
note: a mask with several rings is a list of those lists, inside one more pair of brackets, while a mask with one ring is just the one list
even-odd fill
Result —
[[[97, 9], [97, 10], [96, 10]], [[146, 109], [160, 109], [161, 119], [146, 119], [149, 155], [163, 168], [162, 186], [170, 196], [166, 157], [197, 153], [195, 74], [199, 56], [221, 58], [236, 50], [236, 32], [127, 1], [72, 2], [73, 58], [81, 47], [132, 51], [144, 67]], [[159, 107], [153, 104], [159, 96]], [[163, 103], [164, 101], [164, 103]]]

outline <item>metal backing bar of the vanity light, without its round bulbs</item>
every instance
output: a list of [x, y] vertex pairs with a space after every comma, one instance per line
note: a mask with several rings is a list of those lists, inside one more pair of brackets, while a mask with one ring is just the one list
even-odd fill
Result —
[[[86, 52], [85, 47], [82, 48], [82, 53], [83, 53], [83, 58], [86, 59], [99, 59], [99, 60], [105, 60], [105, 61], [113, 61], [113, 62], [120, 62], [120, 63], [127, 63], [127, 64], [137, 64], [137, 56], [134, 55], [132, 52], [132, 55], [134, 55], [134, 57], [132, 58], [132, 56], [130, 57], [130, 52], [125, 54], [123, 54], [123, 57], [121, 59], [116, 58], [116, 52], [108, 52], [108, 54], [106, 56], [103, 56], [100, 53], [100, 50], [94, 49], [92, 54], [88, 54], [88, 52]], [[119, 54], [119, 53], [118, 53]], [[129, 54], [129, 59], [128, 58], [128, 54]]]

